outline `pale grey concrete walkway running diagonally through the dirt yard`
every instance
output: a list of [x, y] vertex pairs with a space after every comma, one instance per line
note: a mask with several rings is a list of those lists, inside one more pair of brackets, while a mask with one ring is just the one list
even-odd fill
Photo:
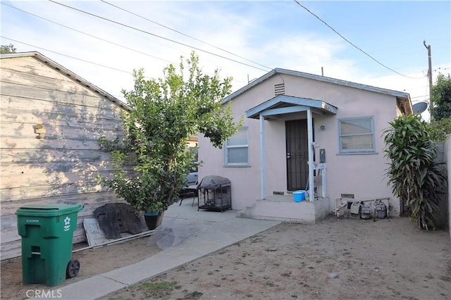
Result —
[[[226, 246], [252, 237], [267, 230], [278, 221], [236, 218], [237, 211], [197, 211], [197, 201], [183, 200], [181, 206], [174, 204], [164, 213], [162, 227], [171, 225], [175, 239], [180, 242], [149, 258], [108, 273], [56, 288], [59, 299], [99, 299], [151, 277], [178, 268], [180, 265], [211, 254]], [[187, 236], [188, 235], [188, 236]], [[121, 258], [118, 258], [121, 259]], [[56, 293], [56, 292], [55, 292]], [[41, 298], [42, 299], [42, 298]]]

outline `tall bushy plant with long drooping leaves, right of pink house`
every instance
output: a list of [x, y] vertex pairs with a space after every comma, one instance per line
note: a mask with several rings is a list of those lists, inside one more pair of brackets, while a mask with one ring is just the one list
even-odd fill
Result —
[[409, 216], [421, 229], [435, 229], [438, 193], [444, 192], [446, 173], [435, 164], [435, 144], [420, 115], [402, 115], [384, 131], [385, 157], [390, 159], [388, 185], [404, 199]]

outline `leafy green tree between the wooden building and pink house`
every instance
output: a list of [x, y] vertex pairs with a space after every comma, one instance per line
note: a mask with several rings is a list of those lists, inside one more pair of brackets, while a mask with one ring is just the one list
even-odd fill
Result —
[[193, 53], [181, 58], [179, 71], [169, 65], [162, 78], [151, 80], [135, 70], [135, 89], [123, 91], [131, 108], [121, 116], [123, 139], [99, 139], [113, 164], [112, 178], [101, 182], [139, 211], [164, 211], [178, 200], [194, 164], [191, 135], [203, 133], [221, 147], [240, 125], [230, 106], [221, 105], [231, 78], [220, 80], [218, 70], [203, 75], [198, 64]]

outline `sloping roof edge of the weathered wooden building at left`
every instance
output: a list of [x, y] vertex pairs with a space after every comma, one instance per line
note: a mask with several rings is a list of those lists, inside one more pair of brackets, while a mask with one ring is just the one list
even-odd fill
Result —
[[47, 58], [46, 56], [40, 54], [37, 51], [19, 52], [19, 53], [12, 53], [12, 54], [0, 54], [0, 58], [2, 58], [2, 59], [3, 58], [16, 58], [16, 57], [34, 57], [38, 61], [41, 61], [42, 63], [44, 63], [46, 65], [49, 65], [50, 68], [57, 70], [59, 73], [66, 75], [67, 77], [71, 78], [72, 80], [78, 82], [80, 85], [83, 85], [87, 89], [90, 89], [95, 94], [99, 94], [99, 96], [103, 96], [104, 98], [117, 104], [118, 106], [121, 106], [122, 108], [124, 108], [127, 111], [130, 110], [130, 108], [126, 104], [124, 104], [121, 100], [117, 99], [115, 96], [112, 96], [111, 94], [105, 92], [103, 89], [100, 89], [99, 87], [93, 85], [91, 82], [84, 80], [82, 77], [73, 73], [71, 70], [64, 68], [62, 65], [56, 63], [55, 61], [52, 61], [50, 58]]

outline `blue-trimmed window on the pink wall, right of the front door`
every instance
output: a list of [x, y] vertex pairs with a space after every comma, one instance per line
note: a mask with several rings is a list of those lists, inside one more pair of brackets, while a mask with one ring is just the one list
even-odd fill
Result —
[[374, 146], [374, 118], [338, 120], [340, 154], [376, 153]]

